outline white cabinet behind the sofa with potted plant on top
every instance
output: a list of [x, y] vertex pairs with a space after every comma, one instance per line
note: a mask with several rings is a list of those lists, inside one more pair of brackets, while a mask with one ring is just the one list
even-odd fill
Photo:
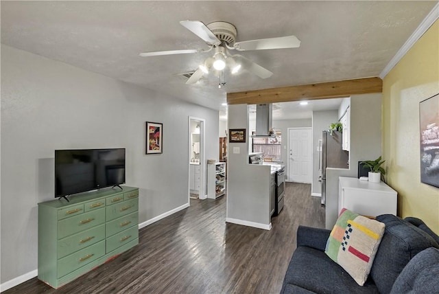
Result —
[[397, 193], [384, 182], [339, 177], [338, 213], [347, 208], [364, 216], [396, 215]]

